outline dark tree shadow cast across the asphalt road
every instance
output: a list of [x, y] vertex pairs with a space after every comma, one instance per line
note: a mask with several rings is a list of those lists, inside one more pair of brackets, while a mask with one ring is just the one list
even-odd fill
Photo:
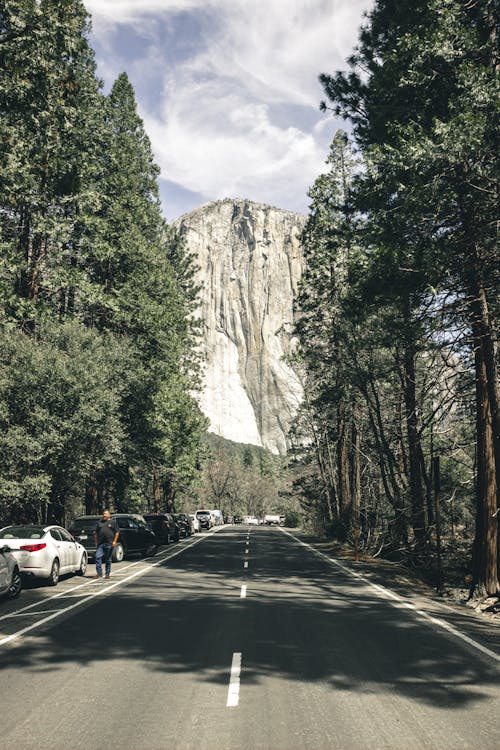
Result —
[[[249, 549], [240, 531], [209, 537], [4, 652], [0, 667], [29, 676], [121, 660], [227, 684], [241, 652], [247, 685], [317, 682], [446, 709], [490, 698], [498, 686], [495, 664], [280, 532], [252, 532]], [[450, 617], [460, 629], [460, 615]]]

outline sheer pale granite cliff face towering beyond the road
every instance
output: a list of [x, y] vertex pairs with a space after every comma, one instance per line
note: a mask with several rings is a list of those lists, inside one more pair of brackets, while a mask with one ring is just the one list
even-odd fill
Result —
[[175, 222], [200, 267], [200, 406], [210, 430], [282, 454], [302, 400], [300, 382], [284, 358], [294, 347], [304, 223], [300, 214], [228, 199]]

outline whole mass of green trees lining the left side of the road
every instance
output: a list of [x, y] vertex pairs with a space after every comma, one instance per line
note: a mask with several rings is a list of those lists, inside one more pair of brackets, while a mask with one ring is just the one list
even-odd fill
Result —
[[193, 259], [133, 88], [102, 94], [88, 31], [79, 0], [0, 7], [5, 518], [172, 503], [199, 474]]

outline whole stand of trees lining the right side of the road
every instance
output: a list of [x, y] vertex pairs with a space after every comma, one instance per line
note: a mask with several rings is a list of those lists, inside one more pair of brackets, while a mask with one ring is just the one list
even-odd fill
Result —
[[[373, 548], [388, 539], [398, 547], [430, 543], [436, 452], [446, 533], [468, 530], [477, 427], [478, 575], [488, 575], [493, 590], [491, 511], [500, 466], [495, 23], [486, 0], [378, 0], [350, 70], [321, 76], [328, 106], [352, 123], [363, 168], [342, 194], [343, 166], [332, 160], [341, 152], [337, 136], [334, 166], [311, 191], [297, 325], [308, 400], [296, 426], [304, 512], [337, 529], [346, 520], [341, 422], [351, 414], [350, 490], [360, 476], [363, 493], [359, 508], [351, 497], [347, 515]], [[490, 519], [484, 524], [483, 513]], [[493, 540], [488, 549], [486, 539]]]

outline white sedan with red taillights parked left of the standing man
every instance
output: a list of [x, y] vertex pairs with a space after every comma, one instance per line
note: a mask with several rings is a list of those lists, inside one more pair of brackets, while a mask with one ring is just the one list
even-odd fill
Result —
[[22, 575], [46, 578], [56, 586], [64, 573], [85, 575], [87, 552], [61, 526], [5, 526], [0, 546], [10, 547]]

